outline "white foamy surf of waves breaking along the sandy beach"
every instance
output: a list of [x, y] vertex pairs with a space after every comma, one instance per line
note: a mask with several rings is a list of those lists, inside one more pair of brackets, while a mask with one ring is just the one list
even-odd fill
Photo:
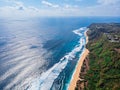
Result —
[[[74, 30], [73, 32], [81, 36], [84, 33], [81, 33], [80, 30], [86, 30], [86, 28], [80, 28], [78, 30]], [[54, 80], [58, 77], [60, 72], [67, 66], [69, 60], [73, 60], [75, 58], [76, 53], [78, 53], [82, 49], [83, 45], [85, 45], [85, 39], [80, 38], [78, 45], [76, 45], [71, 52], [69, 52], [67, 55], [61, 58], [60, 61], [56, 63], [52, 68], [42, 73], [40, 78], [37, 78], [37, 80], [33, 81], [31, 87], [28, 90], [50, 90]]]

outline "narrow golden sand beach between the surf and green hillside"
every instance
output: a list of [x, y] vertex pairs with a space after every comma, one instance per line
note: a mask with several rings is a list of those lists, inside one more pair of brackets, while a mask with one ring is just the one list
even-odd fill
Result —
[[[88, 43], [87, 31], [85, 31], [86, 44]], [[85, 50], [81, 54], [81, 57], [80, 57], [79, 61], [77, 62], [77, 66], [76, 66], [75, 71], [73, 73], [73, 76], [72, 76], [71, 82], [69, 84], [68, 90], [75, 90], [76, 83], [77, 83], [78, 80], [80, 80], [79, 75], [80, 75], [81, 67], [82, 67], [83, 62], [84, 62], [85, 58], [87, 57], [88, 53], [89, 53], [89, 50], [85, 48]]]

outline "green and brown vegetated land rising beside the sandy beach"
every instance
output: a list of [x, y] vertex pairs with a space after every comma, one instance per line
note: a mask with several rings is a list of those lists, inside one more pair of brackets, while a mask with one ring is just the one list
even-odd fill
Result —
[[[85, 90], [120, 90], [120, 24], [92, 24], [89, 29], [90, 70]], [[111, 42], [108, 35], [112, 39], [117, 35], [117, 42]]]

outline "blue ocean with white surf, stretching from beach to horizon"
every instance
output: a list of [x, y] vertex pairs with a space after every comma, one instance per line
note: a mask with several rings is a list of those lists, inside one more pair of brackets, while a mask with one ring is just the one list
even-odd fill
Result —
[[0, 19], [0, 90], [67, 90], [92, 23], [120, 17]]

